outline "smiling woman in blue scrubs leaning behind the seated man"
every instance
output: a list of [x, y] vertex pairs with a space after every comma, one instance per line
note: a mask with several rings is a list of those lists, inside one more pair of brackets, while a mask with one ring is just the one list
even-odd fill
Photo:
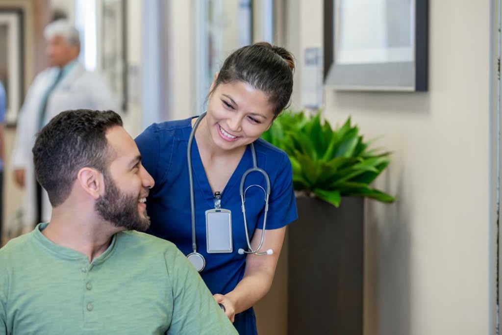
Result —
[[[240, 334], [256, 334], [253, 305], [270, 289], [286, 226], [297, 218], [291, 163], [286, 153], [260, 139], [288, 105], [293, 90], [294, 60], [286, 49], [256, 43], [234, 51], [214, 77], [207, 115], [195, 132], [191, 161], [197, 252], [205, 259], [200, 272], [217, 302]], [[192, 225], [187, 146], [196, 117], [153, 124], [137, 139], [142, 163], [155, 179], [147, 199], [149, 233], [192, 253]], [[239, 195], [243, 173], [257, 165], [270, 178], [271, 193], [265, 240], [260, 251], [272, 255], [239, 254], [248, 250]], [[266, 188], [260, 173], [250, 173], [244, 189]], [[219, 195], [218, 193], [219, 192]], [[251, 246], [263, 232], [265, 200], [260, 187], [246, 192], [246, 218]], [[232, 252], [207, 253], [206, 210], [231, 211]]]

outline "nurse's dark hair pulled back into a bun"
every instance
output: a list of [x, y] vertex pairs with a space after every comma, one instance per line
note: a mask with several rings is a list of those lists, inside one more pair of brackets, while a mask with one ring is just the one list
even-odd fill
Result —
[[259, 42], [235, 50], [225, 59], [211, 94], [220, 83], [245, 82], [269, 95], [274, 118], [287, 108], [293, 91], [295, 61], [286, 49]]

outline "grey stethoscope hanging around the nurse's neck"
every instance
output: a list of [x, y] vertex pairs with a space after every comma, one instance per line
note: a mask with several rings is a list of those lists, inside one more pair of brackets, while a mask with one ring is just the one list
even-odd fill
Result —
[[[197, 252], [197, 242], [195, 238], [195, 200], [194, 200], [194, 195], [193, 195], [193, 175], [192, 175], [192, 142], [193, 138], [195, 136], [195, 130], [199, 126], [200, 121], [206, 116], [207, 111], [202, 113], [197, 121], [195, 122], [192, 132], [190, 133], [190, 137], [188, 138], [188, 147], [187, 147], [187, 162], [188, 162], [188, 179], [190, 182], [190, 209], [192, 211], [192, 253], [187, 255], [188, 261], [192, 263], [192, 265], [195, 267], [195, 269], [198, 272], [201, 272], [204, 267], [206, 266], [206, 260], [204, 259], [204, 256], [199, 254]], [[255, 254], [255, 255], [272, 255], [274, 252], [272, 249], [269, 249], [265, 252], [260, 252], [260, 249], [263, 246], [263, 241], [265, 238], [265, 229], [267, 227], [267, 212], [269, 211], [269, 196], [270, 196], [270, 178], [267, 172], [265, 170], [259, 168], [256, 163], [256, 151], [255, 151], [255, 145], [251, 143], [251, 153], [253, 156], [253, 167], [250, 169], [247, 169], [244, 174], [242, 174], [242, 177], [240, 179], [240, 188], [239, 188], [239, 193], [240, 193], [240, 201], [242, 203], [241, 209], [242, 209], [242, 215], [244, 216], [244, 231], [246, 233], [246, 242], [247, 242], [247, 248], [248, 250], [244, 249], [239, 249], [237, 252], [240, 255], [243, 254]], [[246, 177], [249, 173], [252, 172], [259, 172], [265, 177], [265, 182], [267, 183], [267, 189], [264, 189], [260, 185], [250, 185], [244, 190], [244, 182], [246, 180]], [[245, 206], [245, 197], [246, 197], [246, 192], [250, 187], [257, 186], [260, 187], [264, 192], [265, 192], [265, 214], [264, 214], [264, 219], [263, 219], [263, 231], [262, 231], [262, 237], [260, 239], [260, 244], [258, 245], [258, 248], [256, 250], [253, 250], [251, 247], [251, 242], [249, 241], [249, 233], [247, 232], [247, 220], [246, 220], [246, 206]]]

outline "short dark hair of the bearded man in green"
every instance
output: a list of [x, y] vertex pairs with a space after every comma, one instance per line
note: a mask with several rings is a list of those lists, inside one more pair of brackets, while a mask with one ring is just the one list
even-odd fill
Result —
[[32, 150], [35, 175], [53, 207], [70, 195], [80, 169], [106, 173], [114, 157], [106, 131], [114, 126], [122, 127], [122, 119], [112, 110], [77, 109], [63, 111], [38, 133]]

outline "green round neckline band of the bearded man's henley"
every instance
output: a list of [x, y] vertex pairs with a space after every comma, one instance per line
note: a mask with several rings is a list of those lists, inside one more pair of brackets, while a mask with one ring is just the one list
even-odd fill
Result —
[[[85, 260], [87, 263], [89, 262], [87, 256], [83, 253], [55, 244], [54, 242], [46, 238], [45, 235], [42, 234], [42, 231], [46, 229], [48, 225], [48, 222], [42, 222], [41, 224], [38, 224], [35, 230], [31, 233], [35, 236], [35, 239], [40, 244], [42, 244], [42, 246], [44, 246], [51, 253], [57, 255], [59, 258], [80, 261]], [[115, 249], [116, 236], [117, 234], [113, 234], [108, 248], [106, 248], [106, 250], [101, 255], [94, 258], [90, 264], [96, 265], [103, 263], [108, 257], [110, 257], [113, 250]]]

